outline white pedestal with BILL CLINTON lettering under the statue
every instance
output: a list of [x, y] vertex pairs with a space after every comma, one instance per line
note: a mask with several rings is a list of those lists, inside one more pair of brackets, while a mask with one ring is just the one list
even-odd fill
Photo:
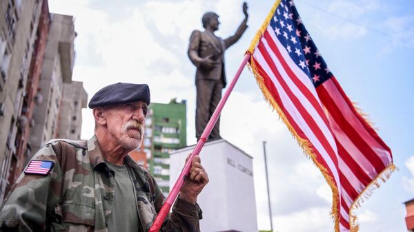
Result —
[[[170, 154], [170, 189], [194, 147]], [[210, 178], [197, 200], [201, 231], [257, 232], [253, 158], [224, 139], [206, 143], [200, 158]]]

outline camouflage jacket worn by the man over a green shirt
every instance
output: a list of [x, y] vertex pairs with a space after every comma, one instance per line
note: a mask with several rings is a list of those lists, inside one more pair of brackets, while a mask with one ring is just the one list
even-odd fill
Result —
[[[32, 159], [51, 160], [55, 166], [46, 176], [21, 174], [3, 202], [1, 231], [108, 231], [115, 174], [95, 136], [88, 141], [51, 140]], [[142, 226], [137, 231], [148, 231], [164, 195], [146, 169], [129, 156], [125, 161], [137, 194]], [[198, 205], [178, 198], [161, 231], [199, 231], [199, 219]]]

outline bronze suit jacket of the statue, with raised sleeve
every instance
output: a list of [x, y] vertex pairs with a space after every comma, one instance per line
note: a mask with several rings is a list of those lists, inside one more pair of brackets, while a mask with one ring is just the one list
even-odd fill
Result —
[[[190, 44], [188, 45], [188, 57], [197, 67], [195, 81], [200, 79], [223, 80], [223, 87], [226, 87], [226, 72], [224, 72], [224, 51], [231, 45], [235, 44], [247, 29], [247, 19], [242, 21], [237, 28], [236, 33], [227, 39], [221, 39], [208, 31], [195, 30], [190, 36]], [[213, 61], [217, 61], [217, 65], [211, 70], [200, 65], [201, 59], [211, 56]]]

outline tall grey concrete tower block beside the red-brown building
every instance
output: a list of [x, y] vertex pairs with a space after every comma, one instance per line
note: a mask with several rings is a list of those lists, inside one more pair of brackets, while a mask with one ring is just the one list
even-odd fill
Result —
[[[50, 14], [50, 18], [50, 32], [43, 57], [38, 92], [43, 101], [34, 112], [35, 125], [30, 136], [33, 151], [39, 150], [48, 140], [57, 138], [58, 134], [66, 134], [59, 131], [58, 124], [63, 103], [63, 83], [70, 84], [72, 81], [72, 68], [75, 60], [73, 43], [76, 32], [72, 16]], [[72, 91], [68, 90], [68, 92]], [[63, 128], [65, 127], [61, 127]], [[70, 131], [69, 128], [66, 129]], [[74, 136], [77, 138], [79, 135], [74, 134]]]

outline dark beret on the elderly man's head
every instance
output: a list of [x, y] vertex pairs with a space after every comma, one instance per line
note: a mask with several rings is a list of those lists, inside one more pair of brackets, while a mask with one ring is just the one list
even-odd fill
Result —
[[144, 101], [150, 105], [150, 88], [146, 84], [116, 83], [99, 90], [89, 101], [89, 107]]

